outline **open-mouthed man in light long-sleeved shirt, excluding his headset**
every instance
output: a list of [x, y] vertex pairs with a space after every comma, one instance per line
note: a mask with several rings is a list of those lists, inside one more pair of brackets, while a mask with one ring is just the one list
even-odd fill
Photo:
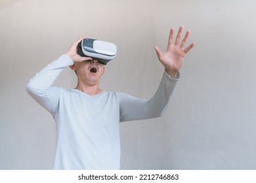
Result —
[[[179, 28], [173, 44], [171, 28], [166, 52], [155, 47], [165, 71], [152, 99], [138, 99], [121, 92], [99, 88], [105, 67], [96, 60], [77, 54], [72, 44], [60, 56], [37, 73], [27, 84], [28, 93], [56, 122], [54, 169], [119, 169], [119, 122], [156, 118], [163, 114], [179, 80], [184, 56], [194, 46], [183, 48], [190, 31], [181, 41], [184, 27]], [[181, 43], [180, 43], [181, 42]], [[77, 87], [64, 89], [52, 86], [60, 72], [70, 66], [77, 73]]]

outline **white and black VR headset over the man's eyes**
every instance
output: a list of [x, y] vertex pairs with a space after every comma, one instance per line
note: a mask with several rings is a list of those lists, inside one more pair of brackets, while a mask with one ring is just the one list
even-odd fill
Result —
[[116, 45], [112, 42], [96, 39], [83, 39], [77, 46], [77, 54], [81, 57], [91, 57], [99, 63], [106, 65], [108, 61], [116, 58]]

